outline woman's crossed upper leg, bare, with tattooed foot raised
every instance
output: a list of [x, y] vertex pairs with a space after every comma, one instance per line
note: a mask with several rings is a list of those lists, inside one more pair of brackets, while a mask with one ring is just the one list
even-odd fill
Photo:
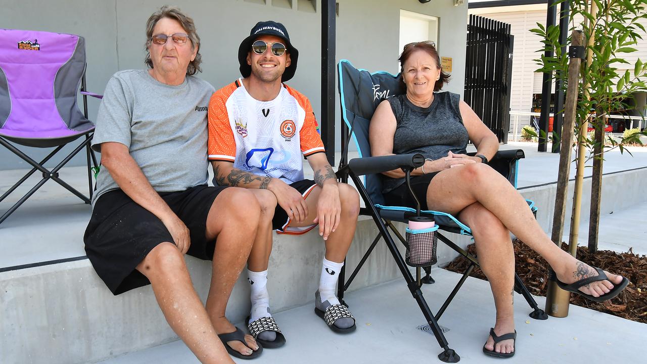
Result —
[[[532, 250], [551, 265], [559, 280], [570, 284], [597, 271], [569, 255], [543, 232], [525, 199], [510, 182], [490, 166], [481, 163], [444, 170], [433, 177], [427, 190], [430, 209], [457, 214], [472, 203], [479, 202]], [[609, 280], [592, 282], [580, 291], [599, 297], [608, 293], [622, 277], [605, 272]]]

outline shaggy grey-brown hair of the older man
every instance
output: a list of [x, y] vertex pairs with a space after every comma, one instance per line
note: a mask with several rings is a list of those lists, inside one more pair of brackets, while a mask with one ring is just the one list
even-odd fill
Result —
[[182, 28], [186, 30], [186, 34], [188, 34], [189, 40], [191, 40], [191, 49], [198, 49], [197, 53], [195, 54], [195, 60], [189, 62], [188, 67], [186, 67], [186, 75], [193, 76], [193, 74], [202, 72], [202, 69], [200, 68], [200, 63], [202, 62], [202, 56], [200, 55], [200, 37], [198, 36], [197, 32], [195, 32], [195, 23], [193, 23], [193, 19], [184, 14], [179, 8], [168, 5], [162, 6], [160, 10], [153, 13], [153, 15], [151, 15], [151, 17], [149, 17], [148, 21], [146, 22], [146, 45], [144, 46], [144, 48], [146, 49], [146, 60], [144, 60], [146, 65], [148, 65], [149, 68], [153, 68], [151, 52], [148, 50], [148, 47], [150, 47], [151, 43], [153, 42], [153, 28], [155, 28], [157, 22], [164, 17], [168, 17], [169, 19], [176, 20], [178, 23], [180, 23], [180, 25], [182, 25]]

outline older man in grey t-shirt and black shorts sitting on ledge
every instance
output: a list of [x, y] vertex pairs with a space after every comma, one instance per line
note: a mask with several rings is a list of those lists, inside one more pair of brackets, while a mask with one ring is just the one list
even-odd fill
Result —
[[[116, 73], [99, 108], [93, 148], [102, 168], [85, 251], [113, 294], [151, 284], [171, 328], [203, 363], [234, 363], [227, 352], [253, 358], [261, 348], [225, 308], [252, 248], [259, 205], [243, 188], [206, 185], [214, 87], [193, 76], [200, 71], [193, 20], [163, 6], [148, 19], [147, 40], [149, 69]], [[206, 308], [185, 253], [213, 260]]]

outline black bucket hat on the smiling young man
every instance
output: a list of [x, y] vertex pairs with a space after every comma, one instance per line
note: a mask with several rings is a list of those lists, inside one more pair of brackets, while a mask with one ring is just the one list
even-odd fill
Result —
[[296, 62], [299, 59], [299, 51], [292, 47], [290, 36], [287, 34], [287, 29], [283, 24], [277, 23], [276, 21], [259, 21], [256, 23], [254, 28], [249, 32], [249, 36], [245, 38], [240, 47], [238, 47], [238, 62], [241, 65], [241, 74], [243, 77], [249, 77], [249, 75], [252, 74], [252, 66], [247, 64], [247, 53], [251, 51], [254, 40], [259, 36], [264, 35], [275, 36], [285, 41], [285, 47], [287, 47], [287, 51], [290, 52], [291, 64], [289, 67], [285, 68], [285, 72], [283, 72], [283, 76], [281, 76], [281, 82], [291, 79], [292, 76], [294, 76], [294, 72], [296, 72]]

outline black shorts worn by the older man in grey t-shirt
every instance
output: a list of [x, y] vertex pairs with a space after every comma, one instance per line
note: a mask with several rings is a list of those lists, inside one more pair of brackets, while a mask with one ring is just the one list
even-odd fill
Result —
[[[206, 240], [206, 218], [225, 187], [197, 186], [179, 192], [160, 192], [171, 210], [190, 231], [187, 254], [209, 260], [215, 241]], [[150, 284], [137, 267], [163, 242], [173, 242], [164, 223], [122, 190], [105, 192], [95, 203], [83, 236], [85, 253], [94, 270], [114, 295]]]

